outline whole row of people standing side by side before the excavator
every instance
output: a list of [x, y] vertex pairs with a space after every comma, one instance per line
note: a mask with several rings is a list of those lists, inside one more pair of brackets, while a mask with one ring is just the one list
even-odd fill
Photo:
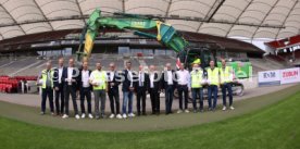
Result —
[[[72, 97], [75, 117], [93, 117], [91, 111], [91, 91], [95, 96], [95, 116], [96, 119], [105, 117], [105, 100], [107, 94], [110, 99], [111, 115], [110, 117], [126, 119], [135, 116], [133, 112], [133, 98], [136, 95], [137, 114], [146, 115], [146, 97], [150, 95], [152, 114], [160, 114], [160, 92], [165, 92], [165, 114], [173, 113], [173, 96], [177, 88], [179, 95], [179, 110], [177, 113], [188, 111], [188, 92], [192, 91], [193, 112], [197, 112], [196, 99], [200, 99], [199, 110], [203, 112], [203, 85], [209, 84], [209, 110], [216, 108], [217, 87], [222, 84], [223, 104], [226, 108], [226, 89], [229, 95], [230, 108], [233, 103], [232, 87], [229, 78], [230, 72], [226, 63], [223, 61], [223, 67], [218, 70], [214, 67], [211, 61], [211, 67], [205, 78], [203, 70], [198, 64], [193, 65], [193, 70], [188, 72], [182, 65], [178, 71], [171, 69], [171, 64], [166, 64], [166, 71], [159, 74], [154, 65], [150, 65], [149, 73], [143, 71], [143, 66], [139, 66], [138, 73], [132, 71], [132, 63], [126, 62], [126, 69], [122, 73], [117, 72], [114, 63], [110, 64], [110, 71], [102, 71], [101, 63], [96, 64], [96, 70], [88, 70], [88, 62], [84, 62], [82, 69], [74, 66], [74, 60], [68, 60], [68, 67], [63, 66], [63, 59], [59, 60], [59, 67], [52, 69], [51, 63], [47, 63], [47, 69], [41, 72], [40, 78], [42, 84], [41, 114], [46, 111], [46, 99], [49, 97], [50, 111], [53, 115], [62, 115], [63, 119], [68, 117], [68, 102]], [[222, 71], [224, 70], [224, 71]], [[226, 82], [224, 82], [226, 77]], [[122, 112], [120, 103], [120, 89], [122, 84], [123, 104]], [[53, 89], [55, 92], [55, 111], [53, 107]], [[79, 90], [80, 110], [79, 116], [76, 92]], [[225, 91], [225, 92], [224, 92]], [[212, 103], [212, 95], [214, 100]], [[224, 96], [225, 95], [225, 96]], [[87, 100], [86, 113], [85, 100]], [[100, 105], [101, 104], [101, 105]], [[184, 107], [183, 107], [184, 104]], [[128, 109], [127, 109], [128, 108]], [[99, 111], [100, 109], [100, 111]], [[86, 115], [87, 114], [87, 115]]]

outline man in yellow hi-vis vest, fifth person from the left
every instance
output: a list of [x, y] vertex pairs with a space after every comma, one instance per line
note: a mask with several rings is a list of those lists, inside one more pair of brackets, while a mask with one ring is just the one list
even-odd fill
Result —
[[[108, 91], [108, 75], [105, 71], [102, 71], [101, 63], [96, 63], [96, 70], [92, 71], [89, 77], [89, 82], [92, 85], [95, 96], [95, 114], [96, 119], [105, 117], [105, 100]], [[101, 113], [99, 113], [99, 101], [101, 102]]]

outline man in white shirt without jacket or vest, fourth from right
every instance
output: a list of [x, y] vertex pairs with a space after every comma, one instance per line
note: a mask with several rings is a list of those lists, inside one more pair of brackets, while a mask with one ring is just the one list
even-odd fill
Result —
[[179, 95], [179, 110], [177, 113], [183, 112], [183, 96], [185, 95], [185, 112], [188, 111], [188, 91], [190, 90], [190, 74], [185, 70], [184, 64], [180, 65], [179, 71], [176, 72], [177, 75], [177, 90]]

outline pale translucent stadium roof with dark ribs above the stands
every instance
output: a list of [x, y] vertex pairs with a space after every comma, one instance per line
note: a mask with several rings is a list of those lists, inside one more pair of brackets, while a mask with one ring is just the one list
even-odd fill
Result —
[[82, 28], [96, 8], [151, 14], [175, 28], [222, 37], [280, 39], [300, 34], [299, 0], [0, 0], [0, 40]]

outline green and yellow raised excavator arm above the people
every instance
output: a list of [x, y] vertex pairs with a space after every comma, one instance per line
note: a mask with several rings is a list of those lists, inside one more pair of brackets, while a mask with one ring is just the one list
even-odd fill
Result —
[[[113, 17], [101, 16], [101, 11], [96, 9], [89, 16], [80, 37], [80, 46], [78, 48], [78, 60], [90, 57], [95, 38], [99, 34], [99, 28], [112, 27], [118, 29], [128, 29], [135, 35], [157, 39], [167, 48], [173, 49], [176, 53], [185, 52], [188, 42], [178, 34], [171, 25], [161, 21], [149, 18], [136, 14], [115, 13]], [[143, 33], [140, 30], [157, 28], [157, 35]], [[85, 40], [84, 51], [82, 50]]]

